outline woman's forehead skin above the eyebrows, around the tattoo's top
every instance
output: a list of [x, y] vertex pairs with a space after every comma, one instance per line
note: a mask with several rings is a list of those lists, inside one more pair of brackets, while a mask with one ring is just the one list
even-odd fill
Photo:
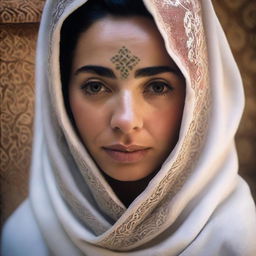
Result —
[[171, 60], [160, 33], [150, 19], [106, 17], [80, 35], [73, 63], [75, 66], [110, 64], [123, 47], [142, 63], [154, 61], [168, 64]]

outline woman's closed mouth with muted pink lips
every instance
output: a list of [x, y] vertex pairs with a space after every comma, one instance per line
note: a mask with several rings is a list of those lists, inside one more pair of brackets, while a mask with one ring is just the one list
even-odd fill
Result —
[[151, 148], [130, 145], [123, 146], [121, 144], [102, 147], [104, 152], [115, 162], [119, 163], [136, 163], [141, 161], [150, 151]]

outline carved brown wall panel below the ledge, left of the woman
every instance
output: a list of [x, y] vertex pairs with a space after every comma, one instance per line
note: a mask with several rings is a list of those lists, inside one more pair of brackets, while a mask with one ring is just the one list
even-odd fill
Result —
[[27, 195], [34, 109], [37, 24], [0, 25], [1, 215]]

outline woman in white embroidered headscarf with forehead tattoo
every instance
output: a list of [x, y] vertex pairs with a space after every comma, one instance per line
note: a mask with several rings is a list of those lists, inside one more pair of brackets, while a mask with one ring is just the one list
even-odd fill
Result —
[[255, 255], [242, 109], [209, 1], [47, 1], [30, 195], [3, 255]]

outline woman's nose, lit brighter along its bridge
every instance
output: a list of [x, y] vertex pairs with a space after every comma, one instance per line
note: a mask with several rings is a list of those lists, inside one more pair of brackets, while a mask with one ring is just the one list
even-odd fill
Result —
[[132, 92], [124, 91], [118, 96], [111, 116], [111, 128], [129, 134], [143, 126], [141, 102]]

